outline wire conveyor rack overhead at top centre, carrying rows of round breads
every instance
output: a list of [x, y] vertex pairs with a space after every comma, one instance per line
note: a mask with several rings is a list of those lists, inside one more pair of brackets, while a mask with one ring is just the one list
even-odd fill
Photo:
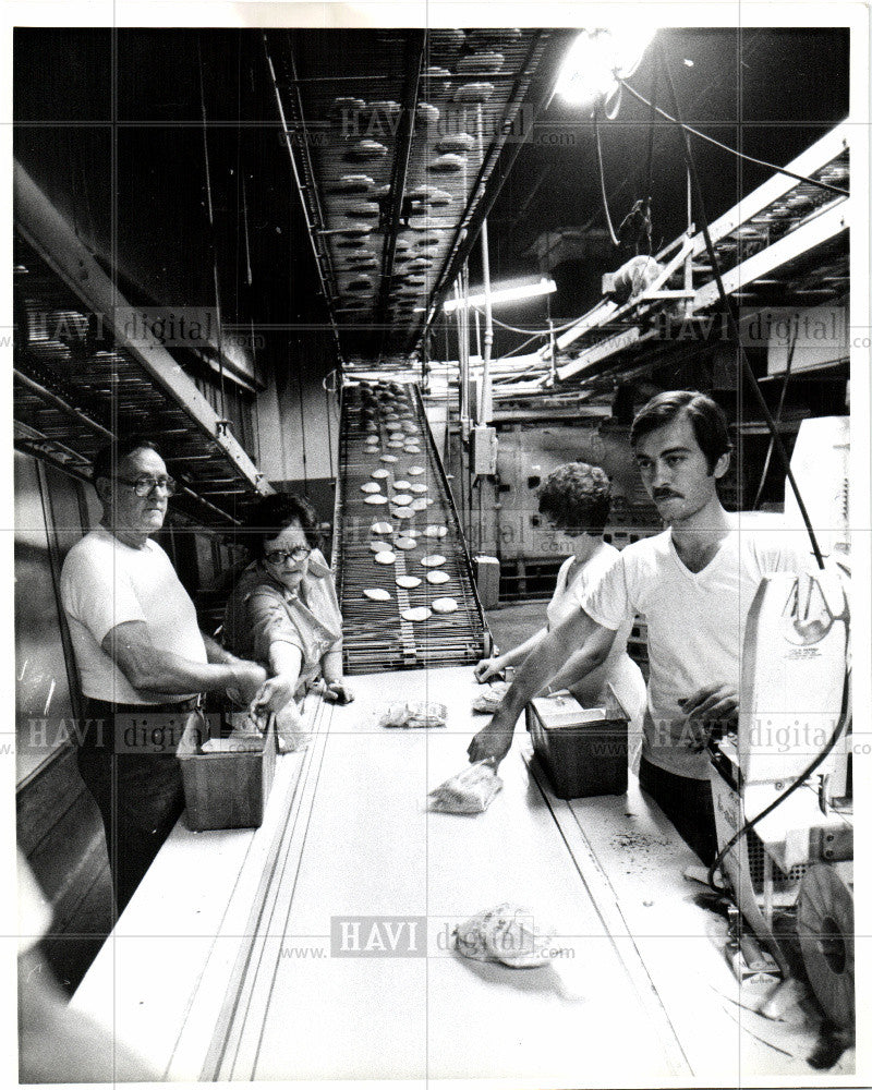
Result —
[[266, 33], [347, 370], [414, 351], [501, 184], [500, 154], [524, 143], [570, 39], [568, 31], [405, 31], [370, 36], [363, 48], [353, 31], [336, 31], [303, 49], [294, 32]]

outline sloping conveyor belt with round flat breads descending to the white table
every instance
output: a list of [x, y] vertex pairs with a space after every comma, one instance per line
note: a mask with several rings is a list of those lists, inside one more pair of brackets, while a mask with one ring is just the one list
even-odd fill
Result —
[[[383, 460], [386, 456], [396, 461]], [[387, 475], [374, 477], [379, 470]], [[376, 483], [386, 500], [382, 505], [367, 504], [362, 491], [362, 485]], [[395, 505], [398, 496], [411, 497], [411, 502]], [[374, 532], [379, 522], [388, 523], [390, 532]], [[335, 528], [334, 571], [347, 673], [457, 666], [485, 654], [489, 633], [417, 386], [355, 384], [343, 391]], [[428, 528], [433, 534], [444, 528], [443, 536], [428, 536]], [[403, 537], [414, 538], [414, 547], [397, 547]], [[375, 560], [376, 541], [391, 546], [392, 564]], [[445, 557], [445, 562], [433, 568], [422, 564], [433, 555]], [[435, 571], [445, 572], [447, 581], [429, 582], [426, 577]], [[397, 585], [398, 576], [421, 582], [403, 589]], [[379, 589], [390, 598], [372, 601], [363, 594], [367, 589]], [[457, 610], [433, 611], [425, 620], [403, 618], [409, 609], [429, 610], [439, 598], [452, 598]]]

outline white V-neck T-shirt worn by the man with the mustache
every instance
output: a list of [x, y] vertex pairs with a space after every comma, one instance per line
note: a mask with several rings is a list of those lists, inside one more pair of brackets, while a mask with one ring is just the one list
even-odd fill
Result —
[[628, 545], [581, 603], [605, 628], [639, 614], [647, 622], [649, 683], [642, 753], [678, 776], [708, 778], [708, 758], [688, 747], [679, 698], [704, 686], [739, 691], [744, 623], [764, 574], [801, 571], [795, 534], [732, 530], [702, 571], [679, 559], [670, 530]]

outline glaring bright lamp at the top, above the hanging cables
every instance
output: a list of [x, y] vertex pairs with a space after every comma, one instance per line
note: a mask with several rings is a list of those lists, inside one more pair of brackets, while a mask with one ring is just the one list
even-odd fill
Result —
[[593, 106], [608, 97], [618, 78], [635, 72], [656, 31], [623, 22], [601, 31], [582, 31], [569, 47], [555, 94], [574, 106]]

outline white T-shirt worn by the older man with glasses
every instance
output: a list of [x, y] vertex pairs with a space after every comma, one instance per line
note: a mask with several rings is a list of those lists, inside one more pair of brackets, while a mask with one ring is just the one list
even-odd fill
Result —
[[[114, 704], [161, 704], [184, 694], [149, 693], [131, 686], [100, 644], [124, 621], [143, 620], [156, 647], [206, 663], [194, 603], [164, 549], [153, 541], [132, 548], [98, 526], [63, 561], [61, 602], [70, 626], [82, 692]], [[193, 695], [193, 694], [192, 694]]]

